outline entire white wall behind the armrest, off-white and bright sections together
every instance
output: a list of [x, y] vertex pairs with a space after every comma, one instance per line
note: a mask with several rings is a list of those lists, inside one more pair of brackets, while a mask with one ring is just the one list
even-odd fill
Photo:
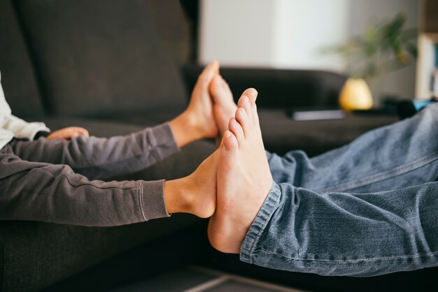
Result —
[[319, 50], [348, 35], [348, 0], [203, 0], [199, 62], [341, 68]]

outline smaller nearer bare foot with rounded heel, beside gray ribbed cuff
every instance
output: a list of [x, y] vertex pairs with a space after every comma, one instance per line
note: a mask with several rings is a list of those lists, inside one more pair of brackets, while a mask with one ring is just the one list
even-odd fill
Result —
[[211, 217], [216, 210], [218, 160], [216, 150], [188, 177], [164, 182], [164, 201], [169, 214], [183, 212]]

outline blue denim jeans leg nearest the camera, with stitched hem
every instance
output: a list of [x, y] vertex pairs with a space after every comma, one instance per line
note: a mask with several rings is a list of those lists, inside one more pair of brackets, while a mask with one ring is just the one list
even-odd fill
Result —
[[241, 261], [367, 277], [438, 265], [438, 183], [371, 194], [274, 183], [241, 245]]

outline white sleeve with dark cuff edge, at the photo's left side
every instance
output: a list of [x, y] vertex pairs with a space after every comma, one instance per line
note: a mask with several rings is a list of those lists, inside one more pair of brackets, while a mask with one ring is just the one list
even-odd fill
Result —
[[28, 123], [13, 115], [5, 117], [3, 129], [13, 132], [15, 138], [27, 138], [29, 140], [34, 140], [36, 133], [38, 133], [39, 131], [50, 132], [50, 129], [48, 129], [48, 127], [45, 126], [44, 123]]

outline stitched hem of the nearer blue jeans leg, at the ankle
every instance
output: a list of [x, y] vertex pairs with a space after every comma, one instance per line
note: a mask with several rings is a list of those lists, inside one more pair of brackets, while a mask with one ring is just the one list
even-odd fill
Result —
[[240, 248], [240, 260], [246, 263], [252, 263], [252, 254], [255, 245], [257, 244], [260, 235], [266, 228], [269, 219], [271, 219], [272, 214], [276, 210], [278, 206], [278, 202], [280, 201], [281, 189], [276, 182], [272, 183], [272, 187], [269, 190], [269, 194], [266, 199], [264, 199], [264, 203], [260, 208], [257, 216], [251, 224], [248, 233], [246, 233], [246, 237], [242, 242]]

